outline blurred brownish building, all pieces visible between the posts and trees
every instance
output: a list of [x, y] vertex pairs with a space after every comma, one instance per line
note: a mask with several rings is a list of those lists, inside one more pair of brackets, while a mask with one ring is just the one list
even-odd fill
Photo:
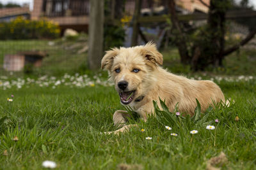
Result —
[[[115, 0], [117, 5], [118, 0]], [[209, 4], [209, 0], [202, 0]], [[194, 11], [207, 12], [207, 6], [199, 0], [176, 0], [179, 11], [182, 13], [193, 13]], [[67, 28], [76, 31], [88, 31], [89, 23], [89, 0], [34, 0], [34, 8], [31, 13], [32, 20], [40, 17], [47, 17], [57, 22], [62, 30]], [[116, 6], [115, 10], [125, 9], [125, 15], [132, 15], [134, 12], [135, 0], [126, 0], [124, 6]], [[166, 13], [168, 0], [142, 0], [141, 12], [149, 11], [150, 15], [161, 15]]]

